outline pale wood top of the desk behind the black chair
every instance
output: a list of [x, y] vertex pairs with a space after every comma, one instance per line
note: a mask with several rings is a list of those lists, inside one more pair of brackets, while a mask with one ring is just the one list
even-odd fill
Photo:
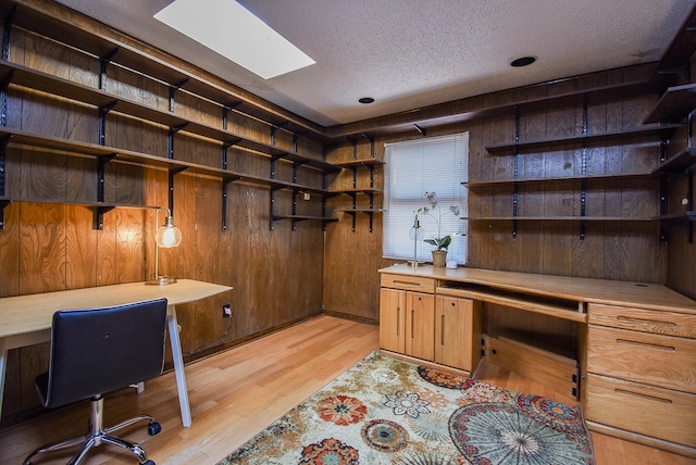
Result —
[[170, 305], [177, 305], [227, 290], [232, 287], [179, 279], [169, 286], [127, 282], [1, 298], [0, 338], [49, 329], [58, 310], [121, 305], [162, 297]]

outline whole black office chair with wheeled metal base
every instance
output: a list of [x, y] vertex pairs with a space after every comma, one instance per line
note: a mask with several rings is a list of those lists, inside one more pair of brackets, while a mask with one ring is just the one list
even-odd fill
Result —
[[90, 399], [89, 432], [39, 448], [29, 454], [24, 465], [30, 465], [32, 458], [42, 452], [84, 443], [69, 462], [77, 464], [92, 447], [102, 442], [129, 449], [140, 464], [154, 465], [139, 444], [113, 437], [111, 432], [147, 419], [148, 433], [154, 436], [161, 430], [160, 424], [142, 415], [103, 428], [103, 394], [162, 373], [165, 321], [166, 299], [53, 314], [50, 366], [48, 373], [36, 378], [36, 388], [47, 409]]

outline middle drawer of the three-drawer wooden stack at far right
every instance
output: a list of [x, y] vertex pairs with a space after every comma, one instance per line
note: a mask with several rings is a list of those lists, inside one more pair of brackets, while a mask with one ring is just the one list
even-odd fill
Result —
[[696, 340], [589, 325], [587, 372], [696, 393]]

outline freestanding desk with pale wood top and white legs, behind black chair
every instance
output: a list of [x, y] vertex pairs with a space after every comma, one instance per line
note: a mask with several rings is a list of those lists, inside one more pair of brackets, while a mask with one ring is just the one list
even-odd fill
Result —
[[182, 423], [191, 425], [188, 391], [184, 374], [184, 359], [178, 337], [176, 305], [195, 302], [227, 290], [228, 286], [179, 279], [169, 286], [147, 286], [144, 282], [100, 286], [58, 292], [35, 293], [0, 299], [0, 412], [4, 393], [4, 377], [10, 349], [46, 342], [51, 339], [53, 313], [63, 309], [94, 309], [121, 305], [144, 300], [167, 300], [167, 330], [176, 375]]

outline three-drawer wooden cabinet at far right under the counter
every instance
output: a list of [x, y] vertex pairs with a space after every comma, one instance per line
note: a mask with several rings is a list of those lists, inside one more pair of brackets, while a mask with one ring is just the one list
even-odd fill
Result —
[[589, 304], [586, 417], [696, 447], [693, 315]]

